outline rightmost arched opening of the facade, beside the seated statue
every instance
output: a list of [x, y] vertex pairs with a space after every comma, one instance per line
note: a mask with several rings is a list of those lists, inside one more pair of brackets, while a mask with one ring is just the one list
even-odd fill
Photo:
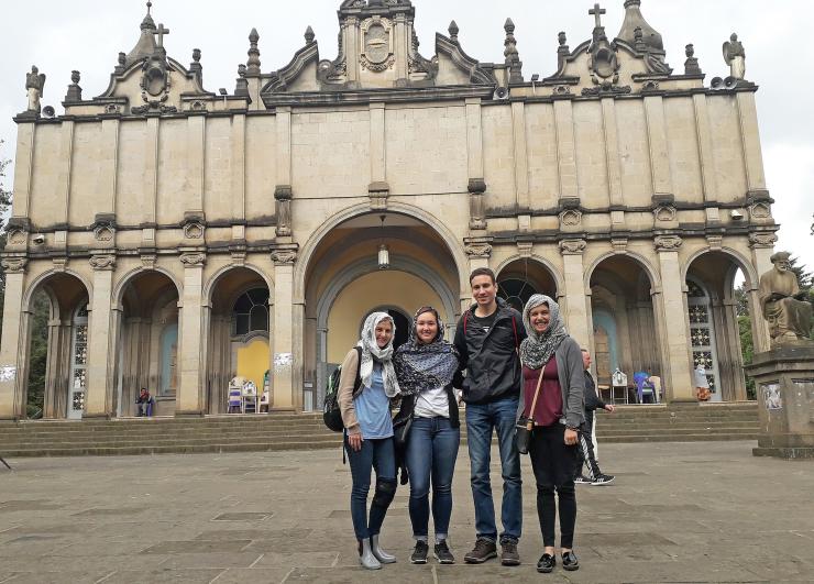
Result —
[[[724, 251], [708, 251], [693, 258], [686, 268], [688, 315], [693, 364], [704, 365], [710, 379], [711, 399], [740, 401], [747, 399], [744, 356], [740, 344], [738, 310], [747, 319], [760, 310], [756, 277], [749, 266]], [[736, 298], [738, 274], [745, 280], [746, 298]], [[752, 318], [755, 345], [762, 334]]]

